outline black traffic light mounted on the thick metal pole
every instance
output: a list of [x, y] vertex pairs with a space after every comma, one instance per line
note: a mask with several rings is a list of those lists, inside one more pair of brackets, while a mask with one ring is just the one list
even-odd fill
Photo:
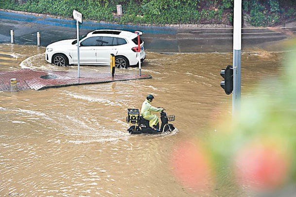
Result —
[[226, 69], [220, 71], [220, 75], [224, 78], [221, 87], [225, 90], [226, 95], [230, 95], [233, 90], [233, 67], [228, 65]]

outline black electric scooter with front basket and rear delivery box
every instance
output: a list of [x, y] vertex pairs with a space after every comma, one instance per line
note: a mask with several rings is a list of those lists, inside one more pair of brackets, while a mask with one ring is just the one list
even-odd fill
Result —
[[[157, 130], [149, 126], [149, 120], [144, 119], [139, 115], [139, 109], [127, 109], [126, 122], [129, 123], [128, 132], [131, 134], [139, 133], [162, 133], [168, 131], [174, 131], [174, 125], [169, 124], [169, 121], [174, 121], [174, 115], [167, 115], [167, 113], [162, 110], [160, 112], [161, 126], [159, 129], [159, 123], [157, 124]], [[132, 126], [131, 126], [132, 124]]]

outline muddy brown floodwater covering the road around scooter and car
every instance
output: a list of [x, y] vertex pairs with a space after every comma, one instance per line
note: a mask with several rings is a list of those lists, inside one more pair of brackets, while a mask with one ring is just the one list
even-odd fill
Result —
[[[47, 64], [44, 50], [0, 45], [0, 53], [12, 56], [0, 62], [0, 70], [77, 70]], [[260, 79], [279, 73], [282, 56], [243, 52], [242, 99]], [[142, 73], [152, 75], [149, 80], [0, 92], [0, 196], [251, 196], [234, 184], [201, 191], [188, 188], [174, 176], [171, 163], [180, 142], [202, 140], [215, 132], [209, 125], [214, 128], [220, 116], [231, 116], [232, 96], [220, 87], [220, 70], [228, 64], [232, 53], [147, 51]], [[80, 72], [109, 70], [81, 66]], [[126, 131], [127, 109], [140, 108], [147, 94], [155, 96], [154, 106], [176, 116], [175, 131], [158, 135]]]

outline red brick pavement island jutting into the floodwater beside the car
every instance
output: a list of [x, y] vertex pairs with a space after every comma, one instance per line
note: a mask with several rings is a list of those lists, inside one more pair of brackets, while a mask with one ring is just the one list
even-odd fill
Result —
[[[54, 79], [42, 79], [41, 76], [50, 76]], [[136, 79], [150, 79], [150, 75], [135, 74], [115, 74], [111, 73], [82, 73], [80, 78], [77, 72], [65, 71], [36, 71], [31, 69], [21, 69], [17, 71], [0, 72], [0, 91], [11, 91], [10, 79], [17, 79], [17, 90], [42, 90], [46, 88], [56, 88], [70, 85], [82, 85], [92, 83], [106, 83], [115, 81], [127, 81]]]

